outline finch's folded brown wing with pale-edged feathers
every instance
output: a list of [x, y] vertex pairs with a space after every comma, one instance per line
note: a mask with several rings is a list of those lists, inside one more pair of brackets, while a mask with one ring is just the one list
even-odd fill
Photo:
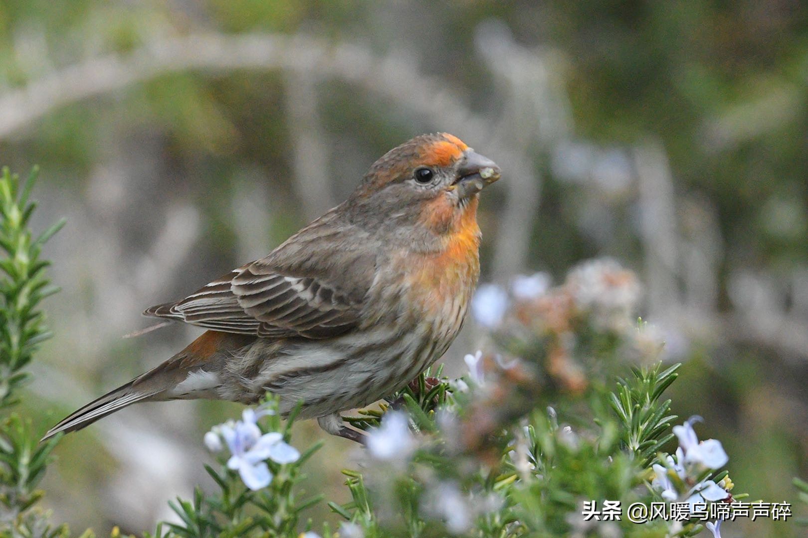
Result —
[[371, 243], [330, 212], [269, 256], [144, 314], [262, 337], [337, 336], [359, 320], [376, 269]]

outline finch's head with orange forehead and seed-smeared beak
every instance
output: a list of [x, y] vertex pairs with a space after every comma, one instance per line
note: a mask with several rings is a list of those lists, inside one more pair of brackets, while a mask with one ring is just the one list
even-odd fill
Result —
[[494, 161], [448, 133], [416, 136], [373, 163], [347, 206], [355, 222], [430, 249], [477, 229], [478, 195], [500, 177]]

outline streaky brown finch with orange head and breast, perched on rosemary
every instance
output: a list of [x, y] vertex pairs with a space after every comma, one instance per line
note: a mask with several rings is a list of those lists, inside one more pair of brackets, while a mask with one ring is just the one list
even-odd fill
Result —
[[387, 152], [346, 202], [258, 261], [145, 315], [210, 330], [156, 368], [88, 403], [45, 436], [135, 402], [267, 391], [287, 414], [361, 440], [340, 411], [406, 386], [460, 331], [479, 274], [479, 192], [499, 167], [456, 136]]

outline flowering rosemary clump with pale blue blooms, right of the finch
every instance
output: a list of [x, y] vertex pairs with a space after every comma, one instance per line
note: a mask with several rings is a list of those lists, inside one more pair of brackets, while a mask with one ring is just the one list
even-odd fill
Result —
[[[611, 261], [574, 270], [558, 288], [549, 288], [544, 274], [517, 278], [509, 292], [483, 287], [472, 312], [490, 330], [491, 348], [465, 355], [468, 373], [460, 379], [421, 376], [388, 398], [392, 410], [362, 411], [354, 425], [368, 432], [368, 457], [362, 473], [345, 471], [351, 503], [331, 503], [332, 510], [366, 536], [584, 536], [594, 528], [570, 503], [650, 503], [655, 494], [640, 495], [633, 486], [653, 473], [654, 457], [677, 433], [687, 448], [681, 461], [691, 454], [688, 469], [713, 465], [712, 441], [671, 428], [676, 417], [662, 395], [680, 365], [633, 367], [613, 392], [600, 381], [612, 376], [610, 369], [625, 369], [610, 360], [626, 348], [649, 357], [659, 352], [656, 345], [633, 345], [641, 334], [647, 339], [631, 318], [637, 297], [633, 274]], [[572, 411], [582, 400], [611, 406], [592, 407], [587, 426]], [[604, 415], [608, 407], [612, 414]], [[390, 473], [390, 463], [397, 472]], [[713, 483], [726, 498], [729, 478]], [[688, 489], [694, 501], [717, 497], [707, 476]], [[480, 510], [487, 498], [499, 503]], [[599, 531], [661, 537], [699, 529], [688, 524], [674, 532], [675, 525], [660, 520], [642, 529], [621, 523], [617, 531], [616, 524]]]

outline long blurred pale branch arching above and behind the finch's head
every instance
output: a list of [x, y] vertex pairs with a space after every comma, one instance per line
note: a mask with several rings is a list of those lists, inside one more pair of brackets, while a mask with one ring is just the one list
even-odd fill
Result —
[[[356, 44], [331, 44], [308, 35], [199, 33], [158, 38], [128, 54], [107, 54], [59, 69], [19, 90], [0, 95], [0, 139], [61, 106], [189, 69], [286, 69], [315, 78], [339, 77], [393, 98], [428, 124], [468, 137], [467, 141], [478, 145], [478, 149], [507, 169], [508, 178], [522, 178], [516, 186], [538, 185], [532, 163], [520, 151], [524, 142], [513, 140], [518, 133], [511, 131], [507, 140], [500, 137], [481, 140], [494, 131], [490, 120], [474, 114], [461, 98], [446, 89], [445, 81], [425, 77], [415, 60], [399, 53], [378, 56]], [[524, 207], [534, 211], [536, 204], [531, 200], [537, 202], [537, 196], [516, 191], [516, 186], [511, 200], [520, 200]], [[520, 215], [523, 213], [520, 210]], [[511, 220], [513, 223], [506, 224], [506, 230], [528, 228], [527, 222], [516, 219], [508, 222]], [[520, 244], [516, 246], [522, 248]], [[498, 256], [510, 261], [509, 272], [524, 268], [524, 254], [516, 254]]]

